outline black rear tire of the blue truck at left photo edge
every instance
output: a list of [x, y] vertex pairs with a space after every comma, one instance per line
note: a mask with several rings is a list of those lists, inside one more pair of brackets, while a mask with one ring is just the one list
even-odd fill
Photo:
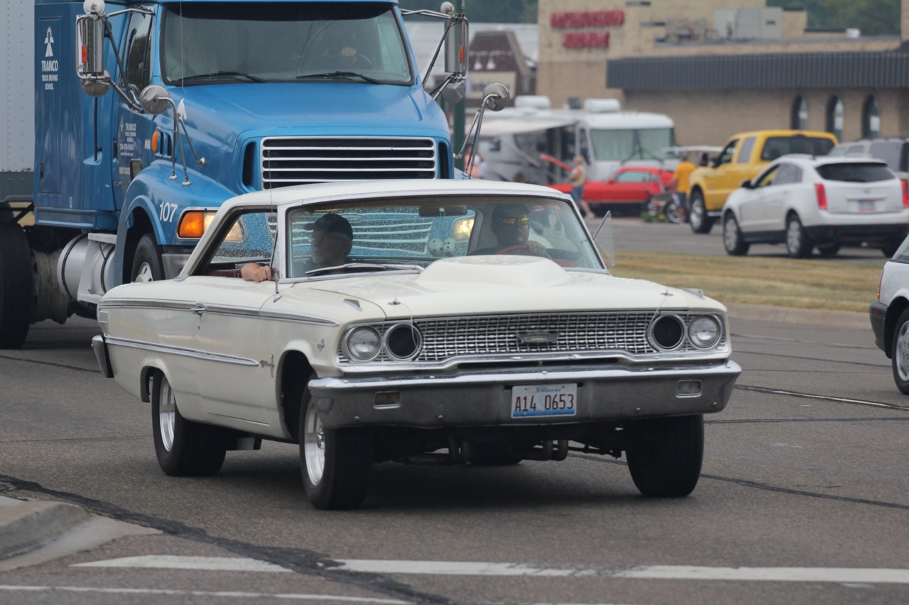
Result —
[[32, 250], [19, 223], [0, 223], [0, 349], [18, 349], [32, 323]]

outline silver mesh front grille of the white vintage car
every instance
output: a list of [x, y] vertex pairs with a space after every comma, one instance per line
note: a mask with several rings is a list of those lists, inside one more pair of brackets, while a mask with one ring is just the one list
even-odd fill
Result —
[[[679, 313], [685, 326], [702, 313]], [[587, 312], [485, 315], [415, 320], [423, 348], [414, 362], [445, 362], [453, 358], [526, 353], [617, 352], [642, 355], [658, 352], [647, 339], [656, 313]], [[397, 322], [374, 325], [383, 336]], [[553, 342], [524, 342], [522, 335], [553, 334]], [[717, 348], [725, 346], [721, 338]], [[687, 339], [675, 352], [699, 351]], [[341, 362], [351, 362], [343, 351]], [[375, 362], [392, 362], [383, 352]]]

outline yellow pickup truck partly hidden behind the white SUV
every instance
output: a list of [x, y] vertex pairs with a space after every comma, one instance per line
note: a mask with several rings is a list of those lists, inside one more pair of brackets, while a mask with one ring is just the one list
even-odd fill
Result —
[[730, 137], [713, 164], [697, 168], [688, 185], [688, 217], [694, 233], [710, 233], [729, 193], [785, 154], [826, 155], [837, 143], [830, 133], [759, 130]]

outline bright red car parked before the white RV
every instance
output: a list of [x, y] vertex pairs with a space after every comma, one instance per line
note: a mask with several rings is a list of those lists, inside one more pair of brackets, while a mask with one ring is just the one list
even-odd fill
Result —
[[[654, 195], [664, 193], [673, 180], [671, 170], [646, 166], [622, 166], [605, 181], [584, 184], [584, 200], [597, 216], [607, 211], [639, 214]], [[548, 185], [556, 191], [571, 193], [568, 183]]]

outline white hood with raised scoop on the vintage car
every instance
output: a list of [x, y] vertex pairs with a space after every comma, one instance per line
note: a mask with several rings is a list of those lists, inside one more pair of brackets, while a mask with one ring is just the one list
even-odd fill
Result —
[[[298, 285], [347, 301], [372, 302], [388, 319], [499, 312], [724, 310], [719, 302], [696, 293], [606, 273], [566, 271], [549, 259], [530, 256], [440, 259], [419, 274], [380, 273]], [[293, 289], [289, 294], [294, 295]]]

